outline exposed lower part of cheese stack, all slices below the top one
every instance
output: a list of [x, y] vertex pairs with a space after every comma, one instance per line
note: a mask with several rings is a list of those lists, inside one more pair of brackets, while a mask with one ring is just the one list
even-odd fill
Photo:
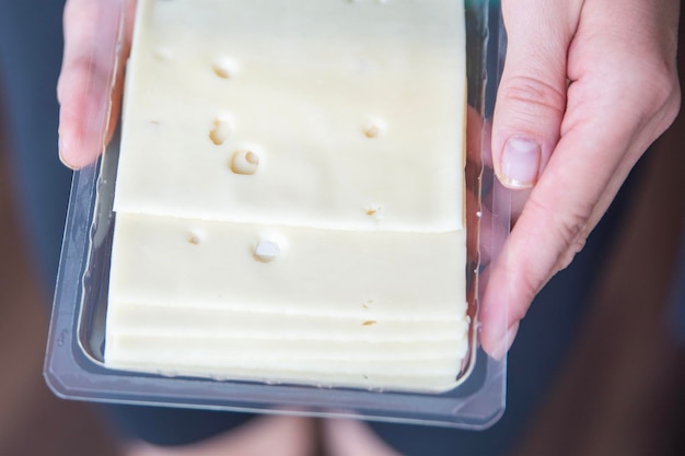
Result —
[[[462, 231], [116, 225], [112, 367], [430, 390], [466, 353]], [[254, 258], [265, 241], [280, 247], [268, 262]]]

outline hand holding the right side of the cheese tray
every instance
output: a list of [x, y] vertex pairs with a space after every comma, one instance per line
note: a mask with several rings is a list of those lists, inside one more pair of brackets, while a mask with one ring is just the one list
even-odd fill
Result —
[[492, 125], [500, 182], [529, 189], [490, 271], [480, 342], [500, 358], [680, 108], [677, 0], [502, 0]]

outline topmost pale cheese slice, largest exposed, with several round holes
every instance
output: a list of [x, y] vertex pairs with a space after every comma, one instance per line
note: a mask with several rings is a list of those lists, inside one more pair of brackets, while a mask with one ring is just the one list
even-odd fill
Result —
[[[461, 1], [143, 1], [139, 14], [116, 211], [463, 229]], [[236, 172], [248, 152], [254, 172]]]

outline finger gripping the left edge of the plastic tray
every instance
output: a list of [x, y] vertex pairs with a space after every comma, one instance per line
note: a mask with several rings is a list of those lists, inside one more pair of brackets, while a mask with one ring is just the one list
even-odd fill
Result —
[[[123, 40], [125, 0], [69, 0], [65, 7], [65, 55], [57, 85], [62, 162], [80, 168], [104, 149], [112, 122], [112, 94], [120, 87], [127, 51]], [[116, 93], [120, 96], [120, 89]]]

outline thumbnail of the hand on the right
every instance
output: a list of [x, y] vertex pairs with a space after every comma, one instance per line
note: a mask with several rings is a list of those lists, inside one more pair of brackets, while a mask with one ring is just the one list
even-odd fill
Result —
[[512, 188], [529, 188], [537, 180], [541, 145], [533, 140], [511, 137], [502, 152], [502, 184]]

